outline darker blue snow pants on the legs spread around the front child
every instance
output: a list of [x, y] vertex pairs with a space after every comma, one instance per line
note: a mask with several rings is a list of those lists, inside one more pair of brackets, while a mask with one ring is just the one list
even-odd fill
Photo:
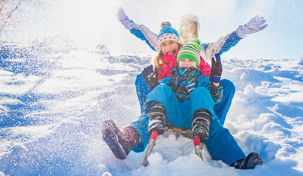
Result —
[[[235, 94], [235, 86], [227, 79], [221, 80], [221, 83], [224, 96], [221, 102], [214, 105], [213, 121], [209, 126], [209, 136], [205, 144], [215, 160], [222, 160], [226, 164], [231, 165], [239, 159], [246, 158], [246, 156], [238, 146], [233, 136], [226, 128], [223, 127], [226, 114], [231, 105], [231, 100]], [[143, 106], [146, 102], [147, 95], [151, 92], [151, 89], [145, 83], [142, 74], [137, 75], [135, 85], [142, 114], [132, 122], [131, 125], [134, 126], [140, 134], [142, 143], [135, 146], [133, 151], [143, 152], [145, 147], [148, 145], [148, 140], [150, 138], [150, 134], [148, 134], [149, 117], [147, 117]], [[217, 114], [220, 114], [220, 116], [218, 117]]]

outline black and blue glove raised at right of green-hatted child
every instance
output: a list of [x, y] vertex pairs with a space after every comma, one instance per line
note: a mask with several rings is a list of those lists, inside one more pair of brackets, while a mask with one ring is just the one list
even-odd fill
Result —
[[222, 75], [222, 64], [220, 54], [215, 54], [216, 62], [214, 58], [211, 58], [211, 70], [209, 75], [209, 81], [219, 83]]

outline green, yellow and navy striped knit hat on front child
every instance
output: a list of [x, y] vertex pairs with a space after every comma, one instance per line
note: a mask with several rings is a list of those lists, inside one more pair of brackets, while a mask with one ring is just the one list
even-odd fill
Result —
[[198, 66], [200, 64], [200, 52], [200, 40], [192, 39], [190, 43], [182, 46], [182, 48], [179, 50], [177, 62], [179, 63], [181, 59], [191, 59], [195, 61]]

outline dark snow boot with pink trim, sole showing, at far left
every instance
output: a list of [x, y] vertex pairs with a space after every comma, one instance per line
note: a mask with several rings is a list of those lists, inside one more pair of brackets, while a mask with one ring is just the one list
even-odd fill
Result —
[[122, 130], [111, 119], [102, 124], [102, 137], [118, 159], [125, 159], [129, 152], [142, 141], [133, 126], [125, 126]]

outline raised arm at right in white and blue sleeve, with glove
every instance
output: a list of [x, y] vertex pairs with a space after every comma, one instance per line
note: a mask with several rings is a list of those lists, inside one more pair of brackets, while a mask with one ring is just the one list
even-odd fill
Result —
[[[248, 23], [239, 26], [235, 31], [221, 37], [218, 41], [213, 43], [202, 43], [201, 50], [205, 51], [205, 60], [210, 60], [215, 53], [220, 55], [228, 51], [231, 47], [235, 46], [242, 38], [249, 34], [256, 33], [260, 30], [265, 29], [268, 25], [263, 17], [258, 15], [252, 18]], [[203, 57], [203, 56], [202, 56]]]

